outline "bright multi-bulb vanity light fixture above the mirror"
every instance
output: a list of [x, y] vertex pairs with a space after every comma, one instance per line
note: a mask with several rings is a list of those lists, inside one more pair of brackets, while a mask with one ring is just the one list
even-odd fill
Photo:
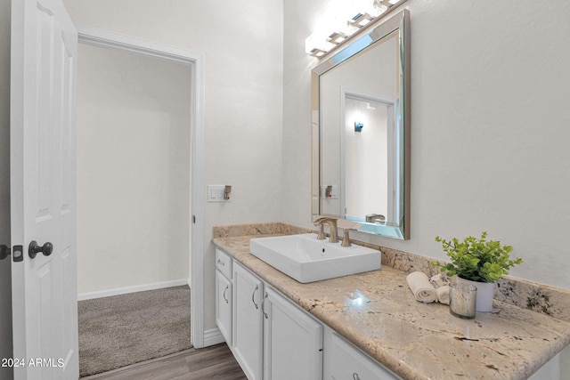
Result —
[[[313, 35], [308, 36], [305, 39], [305, 52], [321, 58], [343, 44], [362, 28], [371, 25], [372, 21], [386, 16], [396, 8], [396, 4], [405, 2], [406, 0], [353, 0], [351, 9], [344, 9], [340, 12], [351, 12], [350, 14], [354, 14], [354, 16], [346, 20], [335, 15], [334, 19], [336, 20], [330, 22], [336, 25], [335, 29], [331, 33], [318, 30]], [[358, 9], [358, 11], [354, 11], [354, 8]], [[327, 25], [330, 26], [330, 23], [327, 23]]]

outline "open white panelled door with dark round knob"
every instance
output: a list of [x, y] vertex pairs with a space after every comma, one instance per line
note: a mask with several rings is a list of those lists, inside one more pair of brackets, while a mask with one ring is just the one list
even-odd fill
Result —
[[[77, 31], [61, 0], [12, 1], [12, 329], [13, 355], [22, 364], [16, 380], [79, 375], [76, 57]], [[32, 241], [43, 247], [35, 258]]]

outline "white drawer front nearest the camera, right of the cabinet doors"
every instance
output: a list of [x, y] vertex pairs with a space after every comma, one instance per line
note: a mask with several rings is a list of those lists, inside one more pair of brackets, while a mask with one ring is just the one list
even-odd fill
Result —
[[325, 346], [324, 355], [324, 377], [327, 380], [394, 380], [398, 378], [334, 332], [330, 336], [330, 344]]

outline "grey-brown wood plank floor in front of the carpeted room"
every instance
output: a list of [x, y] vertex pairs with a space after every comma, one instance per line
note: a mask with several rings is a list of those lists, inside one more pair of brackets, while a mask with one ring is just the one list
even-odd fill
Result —
[[191, 348], [81, 380], [207, 380], [247, 379], [226, 344], [196, 350]]

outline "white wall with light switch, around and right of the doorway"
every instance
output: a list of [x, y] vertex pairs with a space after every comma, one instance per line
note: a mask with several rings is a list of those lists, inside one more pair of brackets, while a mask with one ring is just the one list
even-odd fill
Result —
[[232, 185], [231, 202], [205, 205], [204, 313], [213, 328], [212, 227], [281, 219], [281, 0], [64, 4], [74, 22], [205, 53], [205, 181]]

